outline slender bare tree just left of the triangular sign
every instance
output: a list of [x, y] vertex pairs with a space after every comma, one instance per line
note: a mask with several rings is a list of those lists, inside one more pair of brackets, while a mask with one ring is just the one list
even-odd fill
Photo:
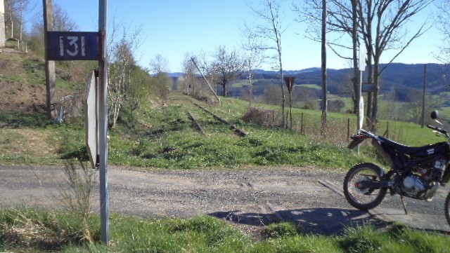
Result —
[[283, 78], [283, 61], [281, 57], [281, 35], [285, 29], [281, 26], [281, 1], [264, 0], [256, 8], [251, 7], [252, 11], [262, 20], [262, 23], [255, 26], [257, 36], [263, 41], [262, 48], [265, 50], [276, 50], [277, 62], [275, 69], [279, 71], [279, 83], [281, 88], [281, 114], [283, 114], [282, 122], [283, 128], [287, 127], [285, 116], [285, 88]]

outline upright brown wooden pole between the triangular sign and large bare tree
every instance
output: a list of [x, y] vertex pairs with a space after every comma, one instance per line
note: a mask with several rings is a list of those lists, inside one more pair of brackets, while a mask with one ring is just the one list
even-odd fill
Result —
[[321, 135], [326, 136], [326, 0], [322, 0], [322, 129]]

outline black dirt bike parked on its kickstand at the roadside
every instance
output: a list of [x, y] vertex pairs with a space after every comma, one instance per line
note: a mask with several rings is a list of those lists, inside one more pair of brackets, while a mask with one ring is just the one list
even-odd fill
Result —
[[[431, 118], [437, 121], [438, 112], [432, 111]], [[439, 123], [442, 125], [442, 123]], [[450, 136], [439, 127], [427, 125], [434, 132], [444, 135], [446, 142], [426, 146], [406, 146], [360, 129], [353, 135], [347, 146], [353, 149], [365, 139], [386, 160], [390, 169], [385, 172], [374, 163], [354, 165], [345, 175], [344, 195], [353, 207], [370, 210], [377, 207], [385, 198], [387, 191], [401, 197], [404, 212], [407, 214], [404, 197], [431, 201], [439, 186], [450, 180]], [[450, 224], [450, 193], [444, 203], [445, 217]]]

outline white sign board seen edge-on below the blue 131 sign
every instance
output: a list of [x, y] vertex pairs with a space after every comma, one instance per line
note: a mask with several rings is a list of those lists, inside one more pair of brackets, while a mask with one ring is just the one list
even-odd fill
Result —
[[86, 130], [86, 146], [92, 168], [97, 167], [98, 156], [98, 131], [97, 131], [97, 83], [96, 73], [93, 70], [86, 88], [86, 120], [84, 128]]

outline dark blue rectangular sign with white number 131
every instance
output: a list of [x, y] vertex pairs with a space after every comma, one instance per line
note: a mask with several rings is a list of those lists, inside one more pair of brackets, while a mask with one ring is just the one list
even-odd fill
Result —
[[98, 60], [98, 32], [47, 32], [47, 60]]

